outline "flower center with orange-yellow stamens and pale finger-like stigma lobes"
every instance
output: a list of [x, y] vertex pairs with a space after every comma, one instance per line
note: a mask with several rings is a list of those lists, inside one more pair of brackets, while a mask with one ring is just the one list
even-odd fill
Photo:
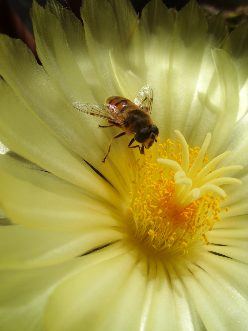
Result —
[[[201, 147], [189, 148], [184, 136], [150, 148], [136, 169], [132, 201], [128, 207], [128, 225], [132, 238], [149, 254], [188, 253], [199, 241], [208, 245], [205, 234], [220, 221], [219, 203], [227, 195], [219, 186], [241, 184], [236, 178], [222, 177], [242, 166], [215, 166], [230, 155], [227, 151], [211, 162], [206, 158], [211, 139], [208, 133]], [[225, 208], [226, 212], [228, 208]]]

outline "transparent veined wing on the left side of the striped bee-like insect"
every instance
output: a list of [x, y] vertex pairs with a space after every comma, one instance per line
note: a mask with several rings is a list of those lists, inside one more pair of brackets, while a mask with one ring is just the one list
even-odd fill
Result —
[[124, 123], [123, 119], [118, 117], [118, 108], [113, 105], [88, 104], [82, 102], [73, 102], [72, 105], [85, 114], [111, 120], [121, 125]]

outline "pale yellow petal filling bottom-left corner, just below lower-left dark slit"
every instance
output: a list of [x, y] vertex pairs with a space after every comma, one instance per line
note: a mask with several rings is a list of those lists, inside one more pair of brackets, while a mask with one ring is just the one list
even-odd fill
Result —
[[79, 271], [123, 254], [130, 247], [111, 245], [84, 257], [30, 270], [2, 271], [0, 275], [1, 331], [45, 331], [44, 310], [54, 289]]

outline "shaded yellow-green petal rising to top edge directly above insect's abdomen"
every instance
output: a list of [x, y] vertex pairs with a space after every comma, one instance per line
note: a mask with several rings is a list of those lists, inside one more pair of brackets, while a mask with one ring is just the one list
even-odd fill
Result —
[[[81, 15], [84, 22], [86, 44], [103, 90], [107, 96], [111, 94], [121, 95], [123, 91], [120, 89], [109, 56], [110, 51], [116, 54], [115, 59], [118, 59], [118, 66], [125, 68], [125, 60], [112, 7], [106, 0], [84, 1], [81, 7]], [[126, 97], [129, 98], [129, 95]]]

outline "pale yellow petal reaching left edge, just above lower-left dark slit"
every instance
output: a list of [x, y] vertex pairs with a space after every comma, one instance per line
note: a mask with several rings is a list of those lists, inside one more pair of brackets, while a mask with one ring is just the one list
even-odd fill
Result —
[[30, 269], [70, 260], [119, 240], [116, 230], [97, 228], [76, 232], [26, 229], [20, 225], [0, 227], [0, 268]]

